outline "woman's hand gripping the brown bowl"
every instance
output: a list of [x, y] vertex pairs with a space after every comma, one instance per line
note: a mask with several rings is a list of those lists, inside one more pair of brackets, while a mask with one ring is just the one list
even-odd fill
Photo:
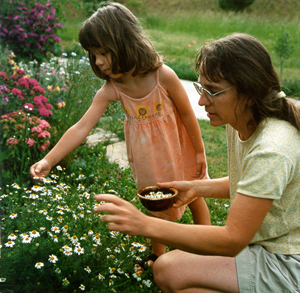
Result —
[[187, 205], [196, 199], [196, 191], [192, 186], [192, 181], [172, 181], [157, 183], [160, 187], [174, 187], [178, 190], [178, 195], [174, 198], [174, 208]]

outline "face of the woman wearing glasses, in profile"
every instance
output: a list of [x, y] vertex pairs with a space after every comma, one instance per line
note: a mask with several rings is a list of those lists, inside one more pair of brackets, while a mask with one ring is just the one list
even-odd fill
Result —
[[251, 119], [247, 99], [241, 99], [241, 97], [238, 99], [236, 87], [226, 80], [220, 80], [218, 82], [208, 81], [205, 76], [201, 74], [199, 76], [199, 82], [203, 88], [208, 90], [211, 94], [228, 89], [213, 96], [213, 103], [207, 98], [207, 92], [203, 91], [200, 95], [198, 104], [205, 107], [210, 124], [212, 126], [230, 124], [239, 132], [242, 139], [250, 137], [253, 131], [250, 131], [247, 127], [247, 123]]

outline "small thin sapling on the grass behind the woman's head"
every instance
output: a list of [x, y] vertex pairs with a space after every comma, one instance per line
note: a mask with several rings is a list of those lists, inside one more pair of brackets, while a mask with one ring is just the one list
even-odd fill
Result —
[[282, 34], [276, 38], [274, 50], [280, 60], [280, 77], [282, 78], [283, 63], [289, 59], [294, 52], [295, 41], [291, 39], [289, 32], [283, 30]]

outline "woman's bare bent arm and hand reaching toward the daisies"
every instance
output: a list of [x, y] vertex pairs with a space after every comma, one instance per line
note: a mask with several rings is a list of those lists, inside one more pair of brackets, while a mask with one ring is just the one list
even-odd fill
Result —
[[[108, 228], [151, 238], [173, 248], [202, 255], [236, 256], [254, 237], [273, 200], [237, 194], [225, 226], [186, 225], [149, 217], [131, 203], [109, 194], [95, 196], [101, 204], [96, 212]], [[184, 235], [184, 237], [183, 237]]]

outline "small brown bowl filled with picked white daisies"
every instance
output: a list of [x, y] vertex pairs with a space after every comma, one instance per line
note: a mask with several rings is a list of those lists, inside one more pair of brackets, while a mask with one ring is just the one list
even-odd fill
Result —
[[162, 188], [147, 186], [138, 190], [137, 195], [142, 205], [149, 211], [159, 212], [172, 206], [178, 190], [175, 188]]

